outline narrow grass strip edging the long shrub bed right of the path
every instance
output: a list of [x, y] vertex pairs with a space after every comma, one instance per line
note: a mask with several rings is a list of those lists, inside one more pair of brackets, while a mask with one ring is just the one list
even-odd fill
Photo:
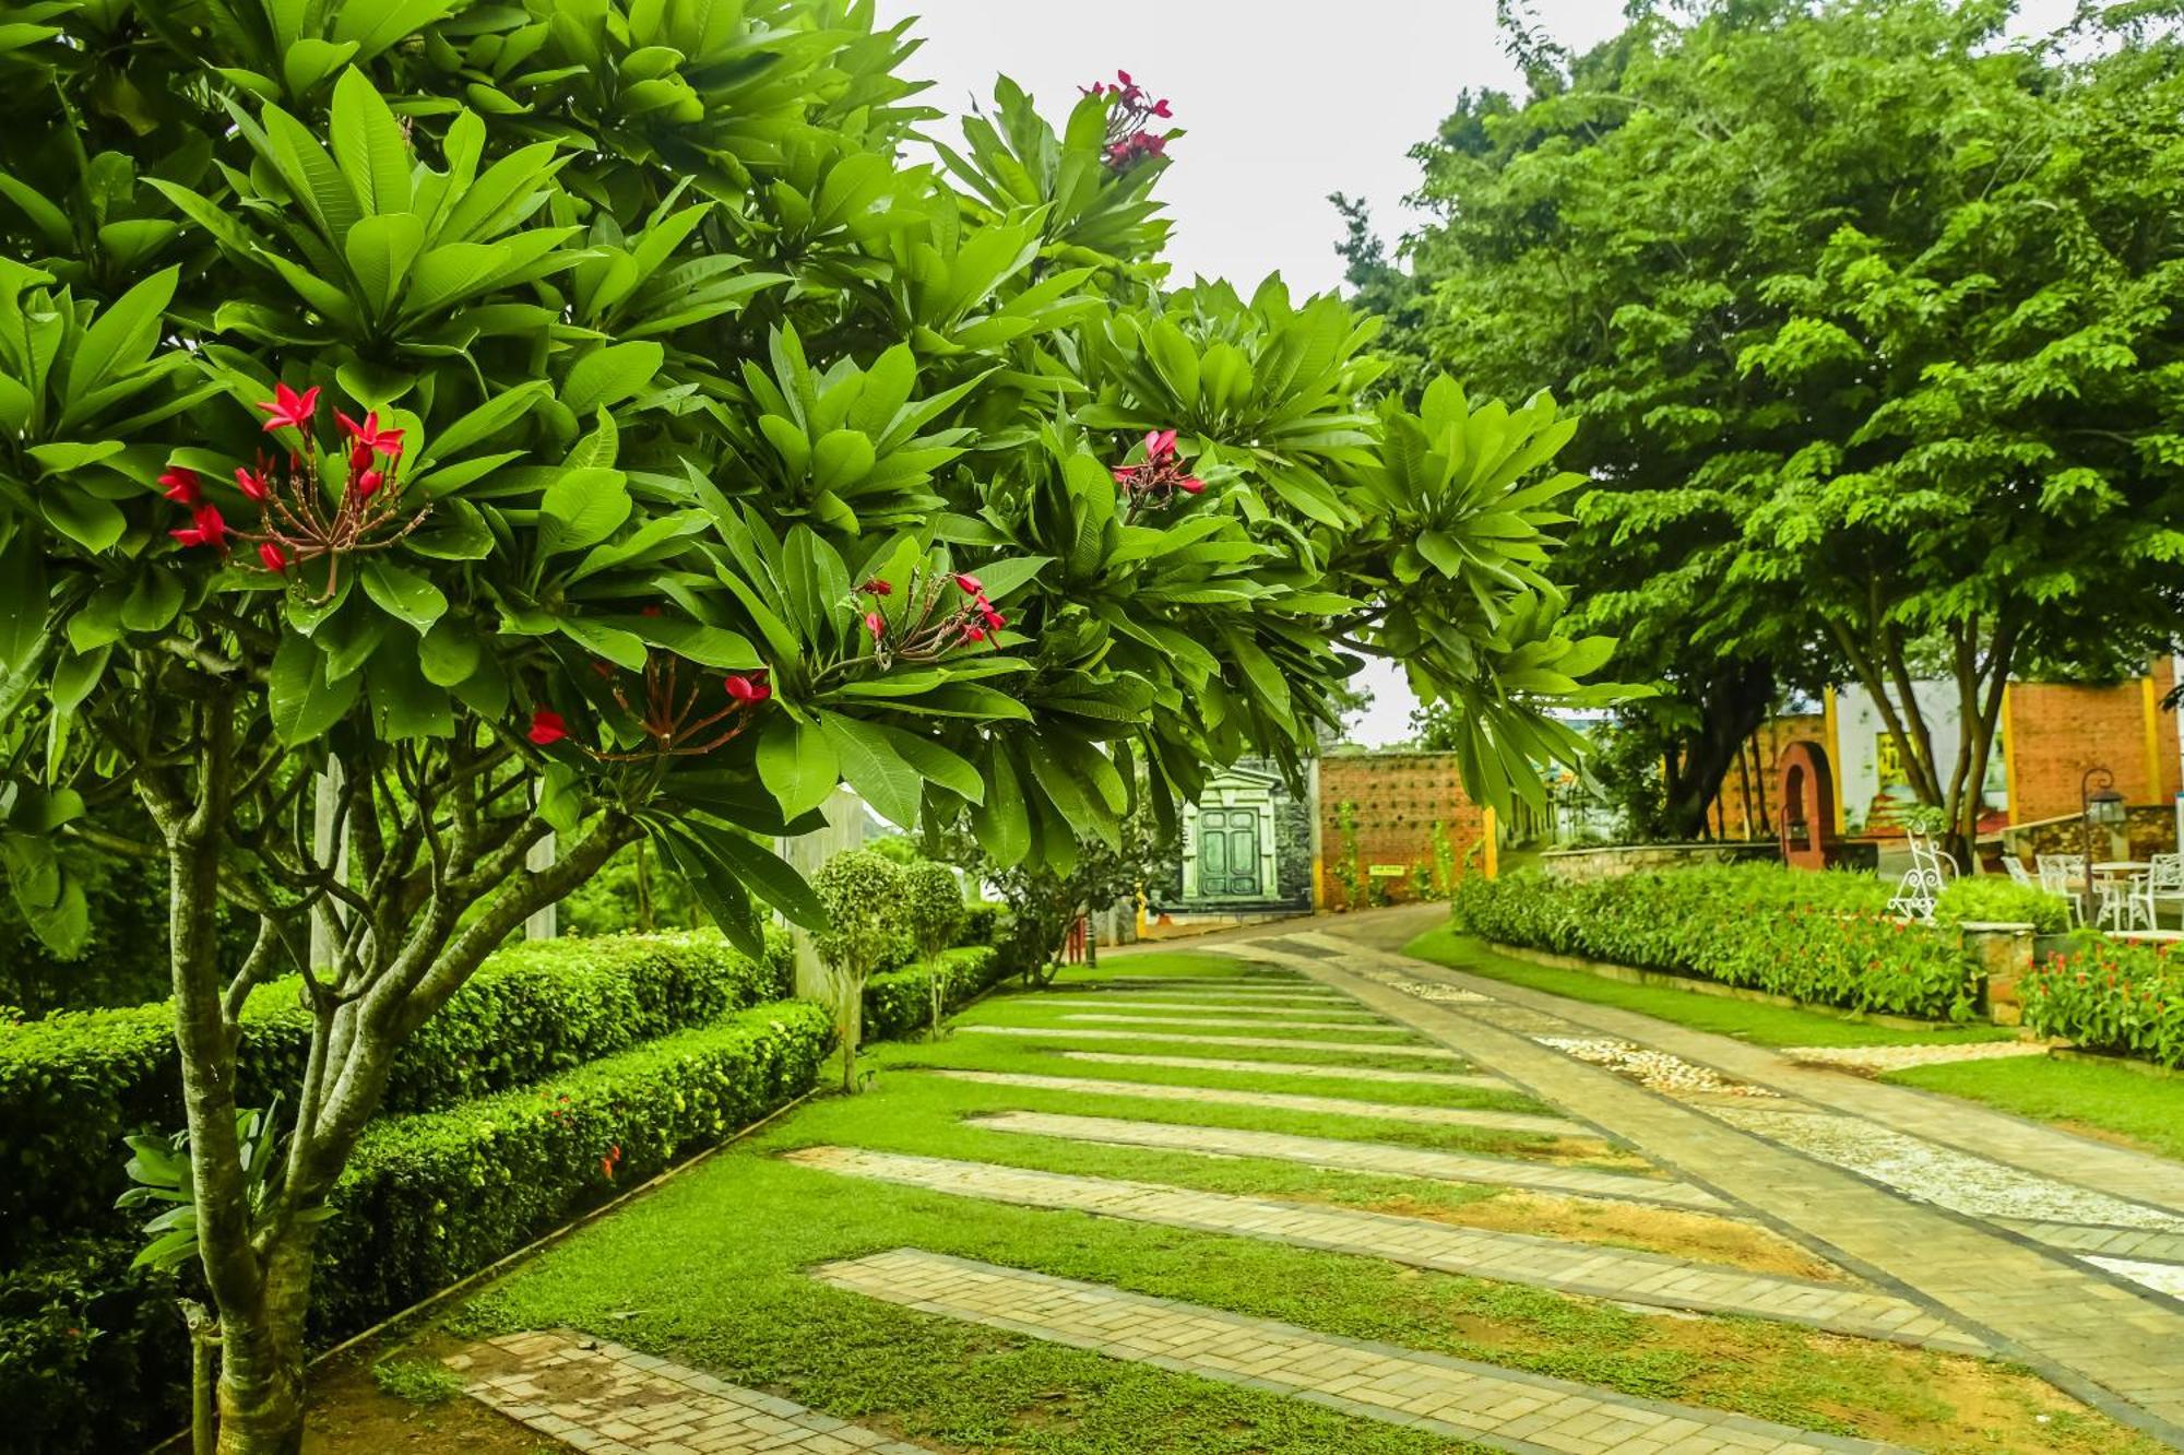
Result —
[[1688, 1025], [1695, 1031], [1749, 1040], [1756, 1046], [1931, 1046], [1939, 1042], [2011, 1040], [2016, 1036], [2016, 1031], [1996, 1025], [1904, 1029], [1850, 1020], [1826, 1009], [1791, 1009], [1787, 1005], [1732, 1001], [1728, 996], [1666, 985], [1629, 985], [1583, 970], [1557, 970], [1498, 955], [1483, 939], [1459, 935], [1452, 928], [1426, 931], [1402, 950], [1404, 955], [1428, 959], [1450, 970], [1544, 990], [1570, 1001], [1614, 1005], [1616, 1009]]

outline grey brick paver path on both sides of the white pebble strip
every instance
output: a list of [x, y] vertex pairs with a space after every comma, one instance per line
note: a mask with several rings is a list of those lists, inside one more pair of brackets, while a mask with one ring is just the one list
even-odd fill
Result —
[[[2001, 1151], [2001, 1127], [2007, 1125], [2025, 1147], [1996, 1160], [2025, 1167], [2053, 1156], [2062, 1162], [2057, 1147], [2070, 1145], [2086, 1154], [2079, 1182], [2158, 1206], [2175, 1206], [2184, 1195], [2175, 1164], [2156, 1169], [2158, 1158], [2138, 1156], [2118, 1162], [2101, 1156], [2097, 1143], [2007, 1116], [1985, 1116], [1963, 1101], [1876, 1097], [1874, 1092], [1896, 1088], [1789, 1066], [1771, 1051], [1684, 1031], [1651, 1016], [1524, 992], [1341, 939], [1324, 939], [1315, 955], [1291, 955], [1278, 944], [1265, 948], [1275, 963], [1348, 990], [1369, 1009], [1509, 1075], [1542, 1101], [1614, 1132], [1662, 1167], [1758, 1210], [1832, 1261], [1913, 1293], [2070, 1394], [2184, 1448], [2184, 1304], [2177, 1300], [2029, 1245], [1994, 1226], [1909, 1202], [1848, 1171], [1738, 1132], [1693, 1105], [1634, 1088], [1614, 1073], [1468, 1014], [1463, 1005], [1406, 996], [1378, 983], [1374, 974], [1433, 979], [1566, 1016], [1968, 1151]], [[2110, 1184], [2110, 1169], [2118, 1173], [2118, 1184]]]

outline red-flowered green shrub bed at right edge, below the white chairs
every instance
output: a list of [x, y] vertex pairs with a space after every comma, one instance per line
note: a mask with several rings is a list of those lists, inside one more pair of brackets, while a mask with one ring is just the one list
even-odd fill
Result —
[[2088, 1051], [2184, 1066], [2184, 963], [2169, 946], [2086, 935], [2018, 981], [2025, 1025]]

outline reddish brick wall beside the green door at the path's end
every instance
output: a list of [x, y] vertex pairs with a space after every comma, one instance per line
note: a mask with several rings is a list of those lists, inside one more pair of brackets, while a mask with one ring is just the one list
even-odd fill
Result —
[[[1372, 885], [1365, 872], [1376, 863], [1426, 865], [1426, 872], [1433, 872], [1435, 819], [1446, 826], [1459, 874], [1465, 870], [1463, 854], [1485, 832], [1481, 808], [1463, 793], [1455, 754], [1337, 754], [1321, 758], [1319, 856], [1328, 909], [1348, 902], [1341, 865], [1350, 859], [1352, 845], [1341, 826], [1343, 804], [1354, 804], [1361, 896]], [[1398, 904], [1417, 898], [1409, 874], [1380, 883], [1387, 887], [1389, 900]]]

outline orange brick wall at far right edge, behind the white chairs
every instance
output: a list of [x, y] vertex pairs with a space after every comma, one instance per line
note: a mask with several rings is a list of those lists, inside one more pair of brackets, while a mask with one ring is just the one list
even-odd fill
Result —
[[[2175, 686], [2169, 658], [2153, 666], [2153, 697]], [[2156, 710], [2153, 776], [2147, 762], [2147, 703], [2138, 677], [2114, 686], [2009, 684], [2011, 824], [2075, 815], [2090, 767], [2116, 776], [2129, 804], [2169, 804], [2177, 791], [2177, 719]]]

